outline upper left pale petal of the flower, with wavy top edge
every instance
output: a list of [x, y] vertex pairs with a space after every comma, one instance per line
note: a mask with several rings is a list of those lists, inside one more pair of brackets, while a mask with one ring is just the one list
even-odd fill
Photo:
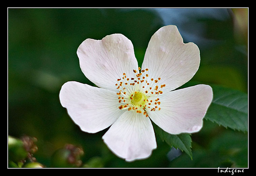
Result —
[[102, 40], [86, 39], [77, 49], [80, 67], [97, 86], [116, 91], [117, 79], [126, 73], [134, 77], [138, 62], [132, 42], [122, 34], [112, 34]]

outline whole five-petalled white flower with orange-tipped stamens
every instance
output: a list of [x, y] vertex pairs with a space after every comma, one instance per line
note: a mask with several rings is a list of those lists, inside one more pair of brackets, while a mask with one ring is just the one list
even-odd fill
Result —
[[170, 134], [202, 128], [212, 88], [199, 84], [175, 90], [200, 63], [197, 45], [183, 43], [176, 26], [164, 26], [152, 36], [141, 69], [131, 41], [122, 34], [86, 39], [77, 55], [83, 73], [98, 87], [66, 82], [60, 102], [82, 131], [110, 126], [102, 138], [119, 157], [133, 161], [151, 155], [157, 147], [151, 120]]

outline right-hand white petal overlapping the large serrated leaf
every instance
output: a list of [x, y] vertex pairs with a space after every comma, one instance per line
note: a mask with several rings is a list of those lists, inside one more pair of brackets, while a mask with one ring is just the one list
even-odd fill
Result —
[[170, 134], [194, 133], [213, 99], [212, 88], [199, 84], [159, 96], [161, 110], [149, 111], [152, 121]]

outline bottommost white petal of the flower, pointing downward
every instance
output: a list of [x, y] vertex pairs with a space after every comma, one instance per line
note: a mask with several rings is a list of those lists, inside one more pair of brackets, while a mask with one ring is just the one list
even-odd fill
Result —
[[102, 138], [111, 151], [126, 161], [147, 158], [156, 148], [150, 119], [135, 111], [125, 111]]

